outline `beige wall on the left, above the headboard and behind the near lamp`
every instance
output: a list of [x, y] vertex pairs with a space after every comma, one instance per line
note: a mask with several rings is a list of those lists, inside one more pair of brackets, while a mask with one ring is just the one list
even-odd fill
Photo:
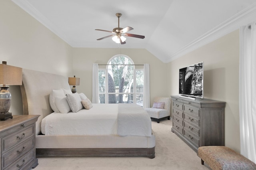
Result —
[[[0, 1], [0, 62], [70, 76], [72, 47], [10, 0]], [[10, 112], [22, 114], [19, 86], [9, 88]]]

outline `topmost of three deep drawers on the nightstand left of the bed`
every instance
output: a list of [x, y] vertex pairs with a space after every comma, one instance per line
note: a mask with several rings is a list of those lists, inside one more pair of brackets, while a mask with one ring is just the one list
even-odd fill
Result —
[[19, 144], [31, 136], [34, 136], [34, 126], [30, 125], [2, 138], [2, 154], [16, 144]]

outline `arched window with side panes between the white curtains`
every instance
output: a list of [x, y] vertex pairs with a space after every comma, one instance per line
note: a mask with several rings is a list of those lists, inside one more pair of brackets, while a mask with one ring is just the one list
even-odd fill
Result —
[[112, 57], [99, 68], [100, 103], [137, 103], [143, 106], [143, 68], [135, 68], [126, 55]]

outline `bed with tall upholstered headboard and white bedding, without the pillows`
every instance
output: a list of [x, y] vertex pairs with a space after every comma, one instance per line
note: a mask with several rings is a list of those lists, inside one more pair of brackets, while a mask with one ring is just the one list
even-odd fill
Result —
[[142, 107], [92, 104], [91, 109], [76, 113], [57, 113], [50, 105], [50, 93], [70, 89], [67, 77], [23, 69], [22, 82], [23, 114], [40, 115], [36, 122], [37, 156], [155, 157], [155, 134]]

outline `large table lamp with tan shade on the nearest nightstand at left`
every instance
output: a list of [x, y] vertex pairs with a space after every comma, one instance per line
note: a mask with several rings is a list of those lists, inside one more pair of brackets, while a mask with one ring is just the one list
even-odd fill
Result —
[[9, 85], [22, 85], [22, 68], [7, 65], [6, 61], [0, 64], [0, 120], [12, 119], [11, 93], [8, 91]]

